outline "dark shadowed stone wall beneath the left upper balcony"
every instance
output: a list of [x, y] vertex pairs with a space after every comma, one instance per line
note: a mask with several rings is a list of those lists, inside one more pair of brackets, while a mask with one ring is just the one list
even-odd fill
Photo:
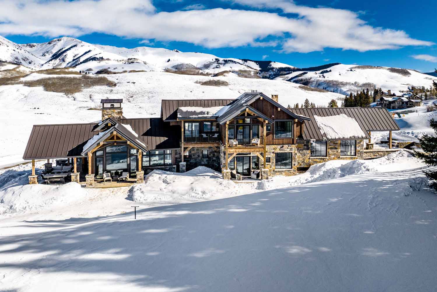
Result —
[[[208, 157], [203, 158], [203, 150], [208, 149]], [[193, 147], [188, 151], [188, 159], [184, 157], [184, 162], [187, 162], [187, 171], [194, 169], [200, 165], [221, 171], [222, 158], [219, 146], [216, 147]]]

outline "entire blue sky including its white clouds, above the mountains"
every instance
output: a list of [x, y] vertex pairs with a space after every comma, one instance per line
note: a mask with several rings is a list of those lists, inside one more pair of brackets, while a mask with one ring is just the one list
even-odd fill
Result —
[[437, 67], [437, 1], [112, 1], [0, 0], [0, 35], [18, 43], [67, 35], [296, 67]]

